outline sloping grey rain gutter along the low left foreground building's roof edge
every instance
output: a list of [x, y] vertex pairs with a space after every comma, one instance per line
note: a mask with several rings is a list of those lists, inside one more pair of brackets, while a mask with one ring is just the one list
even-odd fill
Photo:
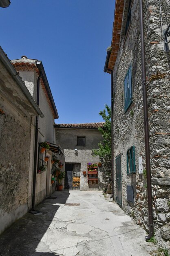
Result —
[[24, 82], [22, 81], [22, 79], [18, 75], [18, 72], [16, 72], [15, 68], [11, 64], [11, 61], [9, 60], [9, 58], [7, 57], [7, 55], [2, 50], [1, 47], [0, 47], [0, 60], [2, 61], [4, 66], [7, 68], [7, 70], [11, 74], [11, 76], [13, 76], [13, 79], [15, 80], [15, 82], [20, 86], [20, 89], [25, 94], [25, 96], [27, 97], [27, 99], [29, 100], [29, 102], [31, 103], [31, 105], [33, 106], [35, 111], [38, 113], [38, 115], [40, 115], [40, 117], [44, 117], [40, 108], [38, 107], [38, 105], [35, 103], [33, 97], [31, 96], [29, 90], [26, 88]]

